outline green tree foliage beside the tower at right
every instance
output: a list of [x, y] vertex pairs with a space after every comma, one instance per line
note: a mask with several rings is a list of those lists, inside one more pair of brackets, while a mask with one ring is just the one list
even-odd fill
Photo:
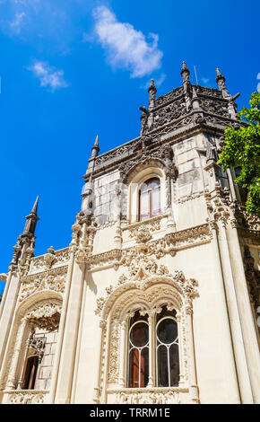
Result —
[[219, 163], [223, 170], [240, 167], [235, 180], [247, 189], [247, 213], [260, 214], [260, 92], [253, 92], [251, 108], [243, 107], [238, 113], [239, 127], [225, 130], [224, 150]]

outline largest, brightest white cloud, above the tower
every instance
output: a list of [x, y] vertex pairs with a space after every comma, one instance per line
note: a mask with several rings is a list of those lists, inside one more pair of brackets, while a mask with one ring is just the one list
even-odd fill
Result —
[[108, 7], [97, 7], [93, 16], [95, 33], [103, 48], [108, 51], [109, 63], [125, 67], [132, 77], [149, 75], [161, 66], [162, 52], [158, 49], [158, 35], [150, 33], [148, 42], [143, 32], [136, 31], [130, 23], [117, 21]]

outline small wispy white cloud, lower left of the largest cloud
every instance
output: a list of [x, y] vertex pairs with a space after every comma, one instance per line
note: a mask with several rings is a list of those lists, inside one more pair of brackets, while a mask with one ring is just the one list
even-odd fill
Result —
[[48, 66], [46, 62], [36, 62], [29, 70], [39, 78], [40, 86], [49, 86], [52, 91], [65, 88], [69, 84], [64, 79], [64, 71]]

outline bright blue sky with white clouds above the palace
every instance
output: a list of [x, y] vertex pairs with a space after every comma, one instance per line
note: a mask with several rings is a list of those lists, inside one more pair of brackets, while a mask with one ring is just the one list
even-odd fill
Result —
[[38, 195], [35, 253], [68, 245], [91, 145], [99, 134], [101, 154], [139, 135], [152, 77], [169, 92], [186, 60], [193, 84], [196, 66], [214, 87], [219, 66], [247, 105], [259, 2], [0, 0], [0, 52], [2, 273]]

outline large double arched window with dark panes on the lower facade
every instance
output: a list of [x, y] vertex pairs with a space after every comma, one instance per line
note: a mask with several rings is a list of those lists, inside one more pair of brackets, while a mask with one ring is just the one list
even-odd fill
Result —
[[[152, 338], [149, 338], [149, 332]], [[155, 345], [154, 362], [149, 367], [149, 354]], [[157, 387], [173, 387], [179, 382], [178, 321], [176, 311], [167, 305], [148, 318], [134, 312], [128, 330], [128, 382], [130, 388], [146, 387], [152, 374]]]

